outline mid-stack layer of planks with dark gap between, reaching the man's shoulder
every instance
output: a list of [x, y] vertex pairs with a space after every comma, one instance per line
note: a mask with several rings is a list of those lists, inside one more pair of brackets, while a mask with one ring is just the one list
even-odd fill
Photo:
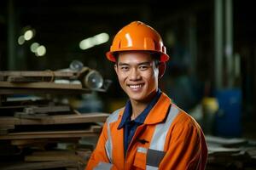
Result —
[[90, 113], [57, 116], [2, 116], [0, 139], [51, 139], [96, 136], [108, 114]]

